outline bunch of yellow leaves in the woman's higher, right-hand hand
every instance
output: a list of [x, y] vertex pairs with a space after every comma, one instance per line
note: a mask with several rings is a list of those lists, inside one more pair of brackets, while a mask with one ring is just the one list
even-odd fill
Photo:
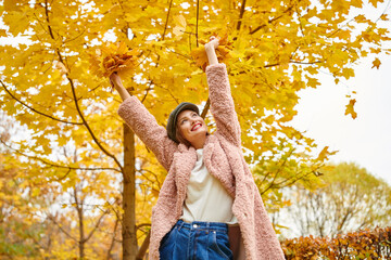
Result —
[[[218, 36], [215, 37], [219, 38], [218, 47], [216, 49], [217, 58], [222, 63], [227, 63], [230, 57], [229, 52], [232, 50], [232, 42], [228, 41], [228, 35], [225, 35], [222, 38]], [[206, 44], [209, 41], [200, 40], [200, 42]], [[190, 55], [195, 60], [195, 64], [205, 72], [209, 61], [204, 47], [202, 46], [192, 50]]]

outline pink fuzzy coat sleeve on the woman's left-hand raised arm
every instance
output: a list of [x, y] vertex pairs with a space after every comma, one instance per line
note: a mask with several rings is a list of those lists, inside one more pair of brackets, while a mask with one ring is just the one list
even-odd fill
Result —
[[168, 171], [178, 145], [168, 138], [166, 129], [156, 122], [136, 96], [126, 99], [119, 105], [118, 115]]

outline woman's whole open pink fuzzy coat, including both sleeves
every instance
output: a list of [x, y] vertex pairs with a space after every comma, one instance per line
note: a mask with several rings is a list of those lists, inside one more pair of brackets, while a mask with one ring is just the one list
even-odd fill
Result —
[[[203, 159], [210, 173], [217, 178], [234, 197], [232, 212], [238, 219], [245, 250], [245, 258], [241, 259], [285, 259], [242, 154], [240, 125], [226, 66], [209, 66], [206, 77], [216, 131], [206, 138]], [[162, 238], [182, 214], [187, 184], [197, 161], [197, 153], [194, 147], [187, 147], [168, 139], [166, 129], [157, 125], [137, 98], [125, 100], [118, 114], [168, 171], [157, 203], [152, 209], [150, 259], [156, 260]]]

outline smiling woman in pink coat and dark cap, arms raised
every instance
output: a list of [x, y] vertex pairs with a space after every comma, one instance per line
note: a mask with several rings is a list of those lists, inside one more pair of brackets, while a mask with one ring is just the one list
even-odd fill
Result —
[[205, 44], [214, 134], [207, 133], [191, 103], [179, 104], [164, 129], [128, 94], [117, 75], [110, 77], [124, 100], [118, 114], [168, 171], [152, 209], [151, 259], [283, 259], [242, 155], [240, 126], [217, 47], [214, 38]]

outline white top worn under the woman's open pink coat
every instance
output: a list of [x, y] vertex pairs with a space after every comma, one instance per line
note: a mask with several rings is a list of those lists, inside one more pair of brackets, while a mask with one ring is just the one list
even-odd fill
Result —
[[203, 162], [203, 150], [197, 150], [197, 162], [187, 186], [181, 220], [185, 222], [222, 222], [236, 224], [232, 213], [234, 198], [214, 178]]

